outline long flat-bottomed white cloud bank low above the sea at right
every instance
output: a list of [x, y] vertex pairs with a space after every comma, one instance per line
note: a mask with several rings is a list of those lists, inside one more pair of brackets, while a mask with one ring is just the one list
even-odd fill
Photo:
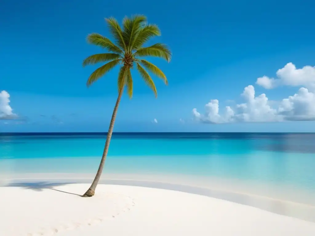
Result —
[[223, 115], [219, 114], [219, 101], [211, 100], [205, 105], [205, 113], [200, 114], [193, 109], [193, 117], [202, 123], [230, 122], [276, 122], [315, 120], [315, 94], [306, 88], [300, 88], [298, 93], [283, 99], [277, 108], [272, 108], [266, 94], [255, 97], [255, 88], [249, 85], [244, 88], [241, 96], [245, 102], [237, 104], [234, 109], [226, 106]]

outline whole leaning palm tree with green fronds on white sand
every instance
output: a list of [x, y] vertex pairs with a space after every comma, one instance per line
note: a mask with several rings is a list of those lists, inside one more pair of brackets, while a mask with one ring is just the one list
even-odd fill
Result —
[[144, 44], [149, 39], [154, 36], [161, 35], [161, 32], [157, 25], [147, 24], [145, 16], [135, 15], [131, 18], [125, 17], [123, 19], [122, 28], [119, 26], [117, 20], [113, 17], [105, 20], [109, 31], [115, 40], [115, 44], [111, 40], [104, 36], [101, 36], [100, 34], [89, 34], [87, 37], [87, 41], [89, 43], [105, 48], [107, 49], [107, 51], [109, 51], [109, 53], [100, 53], [89, 56], [83, 61], [83, 66], [109, 61], [105, 65], [102, 65], [100, 68], [96, 69], [89, 76], [89, 79], [86, 83], [89, 87], [101, 76], [104, 76], [112, 68], [119, 65], [120, 69], [118, 73], [118, 98], [112, 114], [111, 123], [108, 128], [106, 143], [102, 159], [100, 161], [99, 169], [96, 173], [91, 187], [86, 191], [85, 194], [83, 194], [83, 197], [92, 197], [95, 194], [95, 188], [100, 180], [100, 176], [104, 168], [105, 159], [114, 128], [114, 122], [117, 115], [117, 109], [123, 94], [124, 87], [126, 87], [129, 98], [132, 98], [133, 81], [130, 69], [134, 69], [134, 66], [137, 68], [142, 79], [145, 81], [147, 86], [152, 89], [155, 97], [157, 97], [155, 84], [146, 69], [155, 74], [157, 77], [161, 78], [167, 85], [168, 82], [166, 76], [156, 65], [153, 65], [147, 60], [141, 59], [139, 57], [153, 56], [165, 59], [169, 62], [172, 56], [169, 48], [162, 43], [156, 43], [152, 46], [144, 47]]

